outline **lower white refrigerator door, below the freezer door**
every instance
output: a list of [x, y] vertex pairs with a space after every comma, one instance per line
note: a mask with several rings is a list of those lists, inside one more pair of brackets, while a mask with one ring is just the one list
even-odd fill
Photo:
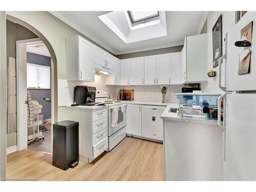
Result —
[[256, 94], [227, 94], [225, 181], [256, 180]]

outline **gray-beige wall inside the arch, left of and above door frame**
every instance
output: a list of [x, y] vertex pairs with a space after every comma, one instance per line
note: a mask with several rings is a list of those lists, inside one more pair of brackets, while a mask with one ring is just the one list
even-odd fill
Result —
[[[7, 57], [16, 57], [16, 40], [37, 38], [37, 36], [27, 28], [6, 20], [6, 48]], [[7, 134], [7, 147], [17, 144], [17, 132]]]

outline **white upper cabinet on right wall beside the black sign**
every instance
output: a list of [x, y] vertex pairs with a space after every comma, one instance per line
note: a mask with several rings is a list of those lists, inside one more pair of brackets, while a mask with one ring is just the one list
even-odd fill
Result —
[[184, 51], [186, 82], [207, 81], [207, 33], [186, 37]]

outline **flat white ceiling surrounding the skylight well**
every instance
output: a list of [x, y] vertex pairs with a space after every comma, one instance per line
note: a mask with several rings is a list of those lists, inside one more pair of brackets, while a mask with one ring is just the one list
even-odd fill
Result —
[[66, 24], [119, 55], [183, 45], [186, 36], [201, 32], [208, 12], [166, 11], [167, 36], [125, 44], [98, 16], [110, 11], [51, 11]]

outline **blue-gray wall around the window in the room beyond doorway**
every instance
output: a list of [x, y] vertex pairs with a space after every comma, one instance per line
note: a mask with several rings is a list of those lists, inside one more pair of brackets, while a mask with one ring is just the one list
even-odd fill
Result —
[[[51, 57], [47, 57], [44, 55], [27, 53], [27, 62], [51, 67]], [[44, 115], [44, 119], [50, 119], [51, 102], [43, 100], [43, 98], [49, 98], [51, 100], [51, 90], [28, 89], [28, 91], [30, 91], [31, 93], [32, 100], [37, 100], [38, 103], [42, 105], [41, 114]]]

